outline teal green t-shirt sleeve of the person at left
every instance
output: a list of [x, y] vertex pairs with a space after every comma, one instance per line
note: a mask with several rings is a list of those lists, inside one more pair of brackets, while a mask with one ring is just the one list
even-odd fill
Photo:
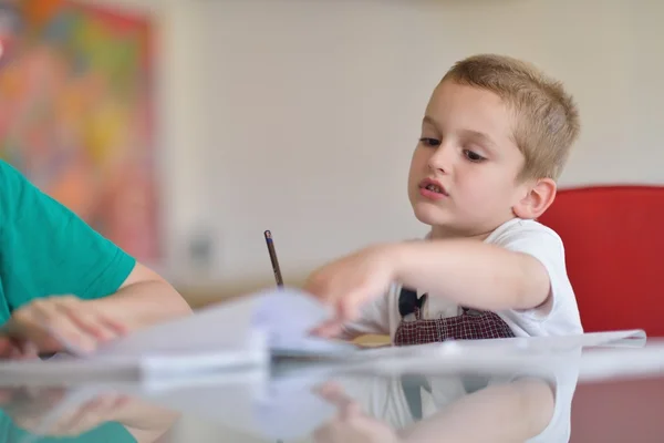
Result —
[[0, 162], [0, 278], [12, 309], [31, 299], [115, 292], [135, 259]]

